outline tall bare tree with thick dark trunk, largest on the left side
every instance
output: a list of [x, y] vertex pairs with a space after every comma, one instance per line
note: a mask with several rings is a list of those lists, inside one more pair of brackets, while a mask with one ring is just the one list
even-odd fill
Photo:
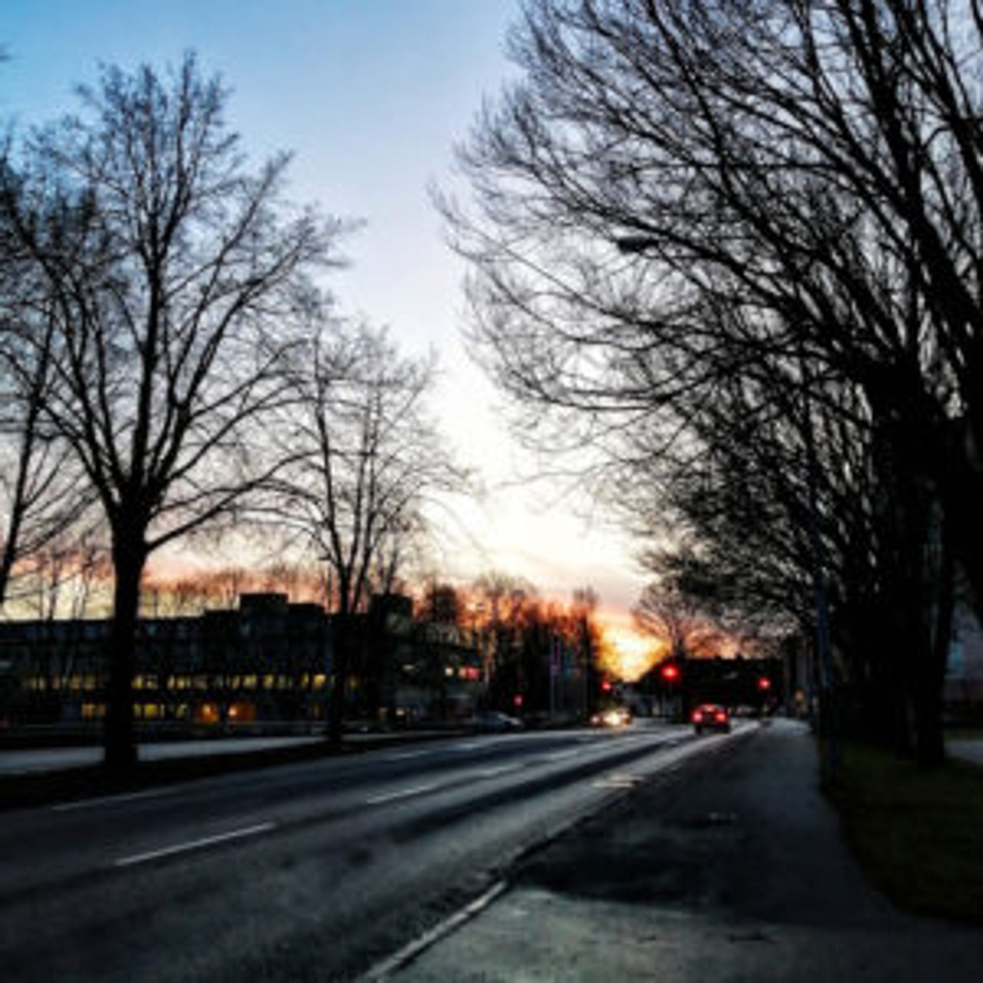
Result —
[[52, 298], [45, 413], [109, 527], [105, 760], [126, 767], [146, 558], [275, 472], [260, 420], [287, 398], [280, 362], [320, 315], [311, 274], [338, 226], [283, 204], [285, 155], [246, 169], [227, 91], [194, 57], [166, 79], [105, 69], [80, 95], [84, 115], [29, 140], [0, 202]]

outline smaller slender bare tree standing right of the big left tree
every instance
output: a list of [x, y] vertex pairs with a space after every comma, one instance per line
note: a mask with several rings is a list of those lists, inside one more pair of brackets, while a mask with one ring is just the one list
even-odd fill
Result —
[[299, 405], [277, 429], [296, 458], [283, 482], [286, 526], [332, 575], [335, 741], [351, 617], [374, 586], [391, 585], [426, 529], [427, 501], [466, 478], [427, 414], [433, 379], [433, 359], [400, 357], [384, 331], [338, 325], [298, 367]]

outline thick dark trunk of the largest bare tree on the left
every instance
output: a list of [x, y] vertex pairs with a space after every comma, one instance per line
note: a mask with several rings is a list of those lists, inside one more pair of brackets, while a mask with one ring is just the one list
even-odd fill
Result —
[[[109, 640], [106, 719], [103, 728], [104, 764], [125, 771], [137, 764], [134, 730], [133, 675], [136, 666], [140, 581], [146, 562], [143, 537], [124, 532], [113, 545], [115, 587]], [[118, 542], [120, 539], [123, 542]]]

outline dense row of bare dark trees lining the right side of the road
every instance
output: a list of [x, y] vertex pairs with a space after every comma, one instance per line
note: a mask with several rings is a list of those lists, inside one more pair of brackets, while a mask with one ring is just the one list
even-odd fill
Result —
[[527, 0], [442, 202], [527, 433], [924, 763], [983, 614], [981, 40], [976, 0]]

